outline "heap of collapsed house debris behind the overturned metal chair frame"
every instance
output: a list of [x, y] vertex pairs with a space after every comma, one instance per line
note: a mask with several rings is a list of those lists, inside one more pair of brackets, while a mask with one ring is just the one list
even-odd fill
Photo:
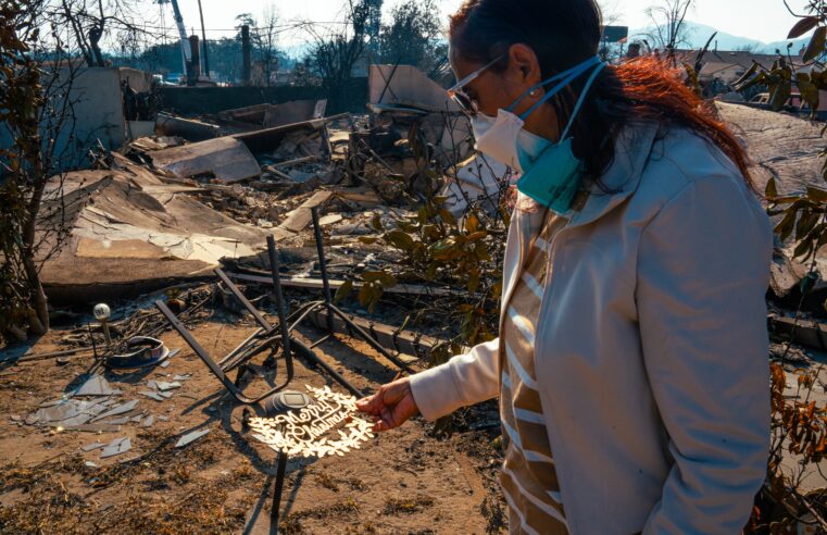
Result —
[[101, 144], [118, 150], [91, 151], [92, 169], [47, 195], [47, 213], [63, 203], [71, 227], [42, 271], [54, 303], [203, 279], [223, 260], [262, 251], [268, 235], [302, 239], [313, 207], [333, 236], [369, 249], [359, 238], [376, 232], [372, 211], [390, 220], [440, 196], [458, 217], [472, 206], [494, 213], [511, 178], [475, 154], [467, 116], [409, 65], [371, 66], [363, 114], [327, 115], [327, 101], [311, 99], [195, 116], [153, 108], [142, 121], [126, 117], [148, 100], [143, 73], [88, 71], [109, 80], [111, 100], [99, 107], [109, 119], [88, 120], [112, 122]]

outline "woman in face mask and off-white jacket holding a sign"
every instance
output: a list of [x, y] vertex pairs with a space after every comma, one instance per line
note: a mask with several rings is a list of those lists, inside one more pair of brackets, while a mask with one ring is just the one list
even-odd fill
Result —
[[467, 0], [452, 90], [522, 171], [500, 338], [383, 386], [379, 431], [500, 396], [515, 533], [735, 534], [766, 470], [772, 228], [734, 136], [594, 0]]

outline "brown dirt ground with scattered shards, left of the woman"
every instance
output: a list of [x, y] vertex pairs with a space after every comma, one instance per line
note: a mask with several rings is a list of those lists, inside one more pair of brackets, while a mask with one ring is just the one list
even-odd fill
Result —
[[[213, 356], [226, 354], [253, 331], [249, 322], [211, 320], [193, 327]], [[61, 349], [53, 331], [34, 350]], [[318, 339], [302, 329], [300, 338]], [[266, 533], [275, 452], [243, 432], [243, 408], [175, 332], [161, 338], [179, 348], [167, 368], [101, 373], [122, 400], [138, 399], [131, 414], [152, 414], [151, 427], [127, 423], [116, 433], [26, 425], [26, 416], [89, 372], [76, 357], [0, 368], [0, 533]], [[365, 344], [339, 337], [317, 348], [324, 360], [364, 391], [396, 370]], [[2, 349], [0, 349], [2, 352]], [[142, 395], [147, 380], [191, 374], [172, 398]], [[338, 384], [297, 360], [292, 389]], [[168, 419], [168, 420], [167, 420]], [[166, 420], [166, 421], [165, 421]], [[377, 436], [343, 458], [293, 459], [283, 500], [280, 533], [499, 533], [505, 530], [497, 487], [496, 407], [460, 415], [456, 432], [435, 433], [423, 421]], [[471, 430], [480, 431], [471, 431]], [[193, 430], [210, 433], [176, 449]], [[90, 443], [129, 437], [130, 451], [109, 459]]]

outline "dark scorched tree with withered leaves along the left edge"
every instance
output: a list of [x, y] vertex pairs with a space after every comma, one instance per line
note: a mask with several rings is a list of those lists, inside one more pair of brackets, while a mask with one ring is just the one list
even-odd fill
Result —
[[0, 148], [0, 335], [16, 339], [25, 339], [26, 331], [39, 336], [49, 328], [36, 262], [36, 222], [51, 144], [45, 145], [39, 132], [46, 98], [30, 45], [38, 27], [35, 12], [29, 0], [10, 0], [0, 8], [0, 116], [13, 138], [10, 148]]

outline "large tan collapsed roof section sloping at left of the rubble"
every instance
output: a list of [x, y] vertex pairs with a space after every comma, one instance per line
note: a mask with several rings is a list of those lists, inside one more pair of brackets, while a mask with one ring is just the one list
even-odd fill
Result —
[[66, 174], [53, 185], [45, 210], [65, 204], [70, 233], [60, 254], [43, 265], [52, 300], [83, 296], [86, 301], [90, 293], [140, 293], [170, 279], [198, 278], [222, 258], [252, 254], [263, 246], [264, 229], [204, 206], [189, 195], [198, 190], [126, 162], [120, 169]]

